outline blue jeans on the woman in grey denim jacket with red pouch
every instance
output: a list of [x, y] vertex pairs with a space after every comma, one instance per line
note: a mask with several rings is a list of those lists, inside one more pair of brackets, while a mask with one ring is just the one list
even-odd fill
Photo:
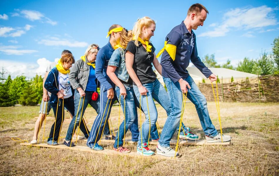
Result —
[[[67, 132], [67, 135], [65, 138], [66, 141], [70, 141], [72, 139], [73, 132], [76, 130], [78, 125], [80, 125], [80, 130], [83, 132], [85, 138], [88, 138], [90, 131], [88, 130], [87, 126], [85, 125], [85, 121], [83, 119], [83, 114], [85, 112], [85, 109], [87, 108], [88, 104], [90, 104], [98, 114], [100, 112], [100, 98], [98, 98], [97, 101], [93, 101], [91, 99], [92, 94], [93, 94], [93, 92], [85, 92], [85, 97], [81, 97], [81, 100], [80, 100], [80, 94], [79, 94], [78, 90], [75, 89], [75, 98], [74, 98], [75, 115], [73, 116], [73, 119], [70, 122], [68, 132]], [[84, 99], [84, 104], [83, 104], [83, 99]], [[80, 105], [79, 105], [79, 101], [80, 101]], [[82, 104], [83, 104], [83, 106], [82, 106]], [[83, 107], [83, 109], [82, 109], [82, 107]], [[82, 119], [82, 121], [80, 121], [80, 119]]]

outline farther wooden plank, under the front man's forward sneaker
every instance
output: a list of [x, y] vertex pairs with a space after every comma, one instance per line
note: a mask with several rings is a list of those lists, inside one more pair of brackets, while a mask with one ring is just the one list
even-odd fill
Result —
[[[87, 139], [85, 139], [84, 141], [87, 141]], [[125, 141], [127, 143], [134, 143], [132, 142], [131, 139], [125, 139]], [[115, 140], [105, 140], [105, 139], [102, 139], [101, 140], [101, 143], [102, 142], [107, 142], [107, 143], [114, 143]], [[170, 145], [176, 145], [177, 143], [177, 140], [171, 140], [170, 141]], [[150, 145], [157, 145], [158, 142], [152, 142], [150, 141], [149, 142]], [[202, 139], [198, 139], [198, 140], [179, 140], [179, 144], [181, 145], [230, 145], [231, 144], [231, 141], [228, 141], [228, 142], [214, 142], [214, 143], [208, 143], [206, 142], [206, 140], [202, 140]]]

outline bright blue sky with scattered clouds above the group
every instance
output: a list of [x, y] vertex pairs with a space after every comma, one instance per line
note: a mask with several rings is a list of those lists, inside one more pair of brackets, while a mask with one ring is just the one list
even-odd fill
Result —
[[[141, 2], [148, 2], [141, 4]], [[209, 11], [195, 32], [200, 57], [215, 54], [233, 65], [244, 57], [270, 52], [279, 36], [278, 0], [269, 1], [0, 1], [0, 64], [12, 77], [42, 75], [63, 49], [76, 59], [91, 43], [102, 47], [112, 24], [132, 29], [138, 18], [156, 21], [151, 41], [157, 53], [169, 31], [186, 17], [191, 4]]]

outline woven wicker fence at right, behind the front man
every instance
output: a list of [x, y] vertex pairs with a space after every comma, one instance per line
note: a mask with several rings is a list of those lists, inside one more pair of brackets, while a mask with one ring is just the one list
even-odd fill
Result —
[[[216, 83], [213, 84], [216, 95]], [[214, 101], [211, 84], [199, 84], [207, 101]], [[218, 84], [219, 100], [226, 102], [279, 102], [279, 75], [260, 76], [259, 79]]]

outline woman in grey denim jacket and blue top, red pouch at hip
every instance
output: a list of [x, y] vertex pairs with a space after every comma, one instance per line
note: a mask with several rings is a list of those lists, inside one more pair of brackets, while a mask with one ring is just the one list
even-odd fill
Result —
[[89, 136], [90, 131], [85, 125], [85, 121], [83, 119], [83, 114], [88, 104], [95, 109], [97, 114], [100, 112], [100, 98], [98, 97], [97, 99], [94, 99], [92, 97], [93, 94], [97, 94], [95, 60], [99, 49], [100, 48], [97, 44], [90, 45], [87, 48], [85, 55], [80, 57], [81, 59], [75, 63], [70, 72], [70, 83], [73, 89], [75, 89], [75, 116], [70, 122], [64, 141], [64, 144], [69, 147], [75, 146], [71, 140], [73, 132], [79, 125], [80, 127], [83, 127], [80, 128], [80, 130], [84, 133], [85, 138], [88, 138]]

